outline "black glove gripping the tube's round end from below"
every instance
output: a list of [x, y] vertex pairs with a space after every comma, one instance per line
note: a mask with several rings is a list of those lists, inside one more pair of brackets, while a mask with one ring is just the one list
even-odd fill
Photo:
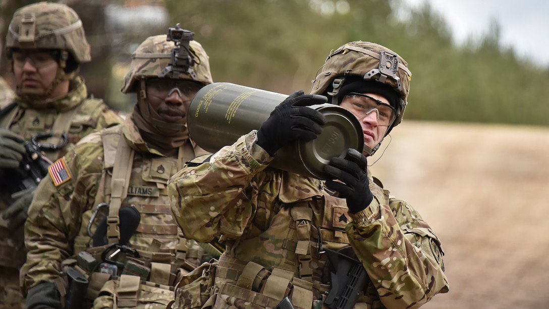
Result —
[[327, 180], [326, 186], [330, 190], [339, 192], [339, 196], [347, 200], [347, 207], [351, 213], [366, 209], [374, 198], [368, 187], [367, 168], [368, 161], [364, 154], [353, 148], [347, 150], [344, 159], [334, 157], [324, 167], [324, 172], [343, 182]]

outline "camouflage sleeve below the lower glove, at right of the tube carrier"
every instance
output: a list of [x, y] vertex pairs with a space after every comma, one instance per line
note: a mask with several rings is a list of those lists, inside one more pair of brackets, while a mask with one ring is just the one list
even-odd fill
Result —
[[448, 291], [440, 241], [410, 204], [376, 197], [350, 216], [349, 241], [385, 307], [418, 308]]

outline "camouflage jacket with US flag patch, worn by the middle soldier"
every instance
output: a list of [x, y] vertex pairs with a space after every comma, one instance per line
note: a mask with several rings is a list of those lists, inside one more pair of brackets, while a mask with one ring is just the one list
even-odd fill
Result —
[[[153, 251], [155, 247], [155, 252], [173, 256], [176, 247], [184, 240], [171, 217], [166, 181], [182, 166], [184, 159], [193, 158], [195, 152], [205, 152], [199, 147], [193, 148], [194, 144], [188, 141], [182, 146], [181, 151], [187, 151], [184, 156], [178, 158], [176, 149], [175, 156], [165, 157], [145, 144], [130, 115], [120, 126], [88, 135], [59, 159], [66, 175], [70, 175], [69, 179], [59, 183], [59, 179], [47, 177], [38, 186], [25, 226], [29, 253], [21, 269], [22, 290], [28, 291], [44, 282], [55, 282], [60, 277], [64, 260], [91, 249], [93, 240], [88, 234], [88, 223], [99, 203], [110, 202], [110, 180], [120, 139], [125, 139], [135, 153], [127, 197], [121, 207], [131, 205], [141, 214], [141, 221], [128, 246], [139, 251]], [[116, 164], [128, 162], [126, 159]], [[104, 216], [100, 213], [93, 220], [92, 233]], [[112, 280], [105, 284], [110, 293], [116, 292], [116, 285], [117, 282]], [[100, 302], [100, 307], [113, 306], [113, 297], [100, 298], [96, 305]], [[164, 307], [169, 300], [165, 301]]]

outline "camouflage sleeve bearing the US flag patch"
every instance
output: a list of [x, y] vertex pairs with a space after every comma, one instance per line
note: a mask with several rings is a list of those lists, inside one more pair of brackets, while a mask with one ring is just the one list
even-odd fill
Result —
[[[100, 135], [88, 135], [81, 142], [93, 139], [100, 140]], [[54, 282], [60, 276], [61, 262], [74, 254], [82, 212], [93, 205], [97, 192], [102, 166], [99, 151], [102, 154], [97, 143], [71, 147], [52, 164], [49, 175], [38, 185], [25, 223], [28, 252], [20, 271], [21, 290], [25, 294], [37, 284]]]

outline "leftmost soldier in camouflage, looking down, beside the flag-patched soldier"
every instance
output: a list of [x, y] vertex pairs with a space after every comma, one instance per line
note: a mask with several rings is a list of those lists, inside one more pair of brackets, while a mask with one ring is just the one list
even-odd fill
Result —
[[78, 76], [79, 65], [91, 56], [74, 10], [59, 3], [30, 4], [16, 10], [7, 30], [15, 97], [0, 100], [0, 307], [19, 308], [24, 305], [23, 224], [47, 173], [44, 166], [27, 177], [28, 162], [43, 156], [47, 165], [82, 137], [122, 119], [93, 98]]

